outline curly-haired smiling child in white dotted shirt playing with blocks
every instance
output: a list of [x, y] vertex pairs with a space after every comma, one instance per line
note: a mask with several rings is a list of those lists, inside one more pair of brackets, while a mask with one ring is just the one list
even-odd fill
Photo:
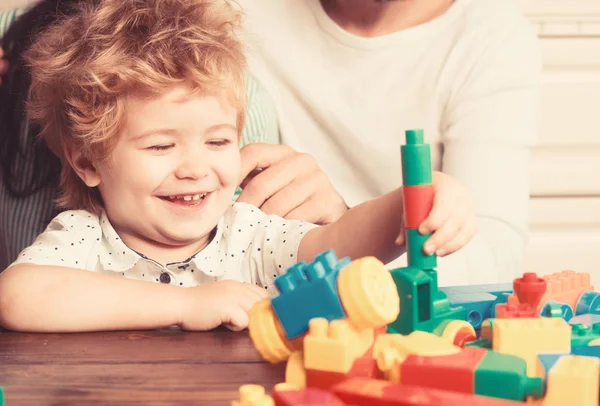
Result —
[[[322, 227], [231, 204], [246, 65], [228, 3], [90, 3], [27, 54], [30, 114], [63, 160], [70, 210], [0, 275], [2, 326], [240, 330], [298, 261], [404, 252], [401, 189]], [[420, 230], [435, 231], [426, 250], [448, 254], [472, 236], [475, 212], [456, 181], [436, 173], [434, 184]]]

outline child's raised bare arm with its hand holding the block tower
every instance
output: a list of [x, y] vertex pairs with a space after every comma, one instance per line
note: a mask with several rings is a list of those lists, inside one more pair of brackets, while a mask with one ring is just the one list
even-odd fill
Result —
[[[431, 234], [423, 244], [426, 254], [445, 256], [465, 246], [476, 231], [476, 210], [464, 186], [440, 172], [433, 176], [431, 211], [418, 227]], [[312, 261], [333, 249], [338, 257], [375, 256], [384, 263], [404, 253], [403, 189], [396, 189], [354, 207], [336, 223], [310, 230], [298, 249], [299, 261]], [[398, 242], [398, 243], [397, 243]]]

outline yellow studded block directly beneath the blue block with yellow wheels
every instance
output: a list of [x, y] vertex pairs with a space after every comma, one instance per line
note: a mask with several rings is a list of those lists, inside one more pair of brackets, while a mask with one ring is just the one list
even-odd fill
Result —
[[356, 330], [348, 320], [314, 318], [304, 337], [304, 368], [346, 373], [373, 345], [373, 329]]

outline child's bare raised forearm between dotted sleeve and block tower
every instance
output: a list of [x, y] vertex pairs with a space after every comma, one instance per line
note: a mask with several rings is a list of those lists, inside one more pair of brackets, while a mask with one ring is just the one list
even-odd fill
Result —
[[402, 215], [402, 189], [364, 202], [337, 222], [311, 229], [300, 243], [298, 261], [311, 262], [319, 253], [333, 249], [339, 258], [375, 256], [390, 262], [405, 251], [403, 244], [396, 244]]

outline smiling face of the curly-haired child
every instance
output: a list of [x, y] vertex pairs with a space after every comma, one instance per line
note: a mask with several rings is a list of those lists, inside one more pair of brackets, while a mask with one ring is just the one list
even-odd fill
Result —
[[191, 95], [186, 87], [129, 97], [126, 109], [114, 151], [95, 165], [106, 214], [133, 249], [193, 255], [238, 186], [237, 111], [225, 97]]

